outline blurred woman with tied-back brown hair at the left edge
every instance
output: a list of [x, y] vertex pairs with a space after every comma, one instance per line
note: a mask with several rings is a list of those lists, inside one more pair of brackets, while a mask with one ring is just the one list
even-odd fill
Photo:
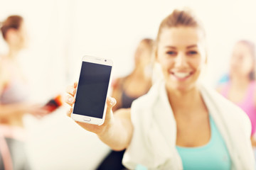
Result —
[[28, 84], [17, 60], [28, 40], [23, 18], [9, 16], [0, 28], [9, 47], [6, 55], [0, 55], [0, 169], [30, 169], [23, 115], [41, 117], [48, 111], [40, 104], [27, 101]]

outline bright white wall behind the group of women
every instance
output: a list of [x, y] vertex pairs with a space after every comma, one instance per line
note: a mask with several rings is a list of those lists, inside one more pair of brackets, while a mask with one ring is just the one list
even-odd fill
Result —
[[[0, 21], [11, 14], [25, 18], [31, 43], [19, 59], [31, 81], [31, 100], [45, 102], [78, 79], [82, 55], [111, 58], [114, 77], [128, 74], [139, 40], [155, 38], [161, 20], [182, 6], [193, 8], [206, 27], [205, 81], [215, 86], [228, 71], [235, 40], [256, 41], [255, 1], [0, 0]], [[43, 120], [26, 118], [34, 169], [93, 169], [107, 153], [95, 135], [65, 118], [66, 108]]]

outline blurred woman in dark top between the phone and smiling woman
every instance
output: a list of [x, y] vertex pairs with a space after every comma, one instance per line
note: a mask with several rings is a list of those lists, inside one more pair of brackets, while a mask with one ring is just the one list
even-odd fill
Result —
[[[117, 100], [117, 104], [112, 108], [112, 111], [117, 111], [119, 108], [131, 108], [132, 102], [139, 96], [146, 94], [151, 88], [153, 44], [154, 40], [149, 38], [139, 42], [134, 54], [134, 70], [132, 73], [112, 82], [112, 97]], [[124, 150], [110, 152], [97, 170], [125, 169], [122, 165], [123, 155]]]

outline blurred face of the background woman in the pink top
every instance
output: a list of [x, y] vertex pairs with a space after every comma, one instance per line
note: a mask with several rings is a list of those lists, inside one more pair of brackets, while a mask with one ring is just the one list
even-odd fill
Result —
[[231, 75], [248, 77], [253, 69], [253, 57], [250, 48], [242, 42], [238, 42], [233, 50], [230, 60]]

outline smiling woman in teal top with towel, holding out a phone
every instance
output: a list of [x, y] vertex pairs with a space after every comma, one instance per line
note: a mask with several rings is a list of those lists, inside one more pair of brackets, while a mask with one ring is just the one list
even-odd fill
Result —
[[[174, 10], [161, 21], [156, 37], [156, 62], [164, 79], [119, 109], [107, 98], [103, 125], [78, 123], [114, 150], [126, 149], [128, 169], [255, 169], [250, 120], [238, 106], [200, 83], [206, 65], [206, 35], [187, 10]], [[66, 102], [73, 111], [75, 89]]]

